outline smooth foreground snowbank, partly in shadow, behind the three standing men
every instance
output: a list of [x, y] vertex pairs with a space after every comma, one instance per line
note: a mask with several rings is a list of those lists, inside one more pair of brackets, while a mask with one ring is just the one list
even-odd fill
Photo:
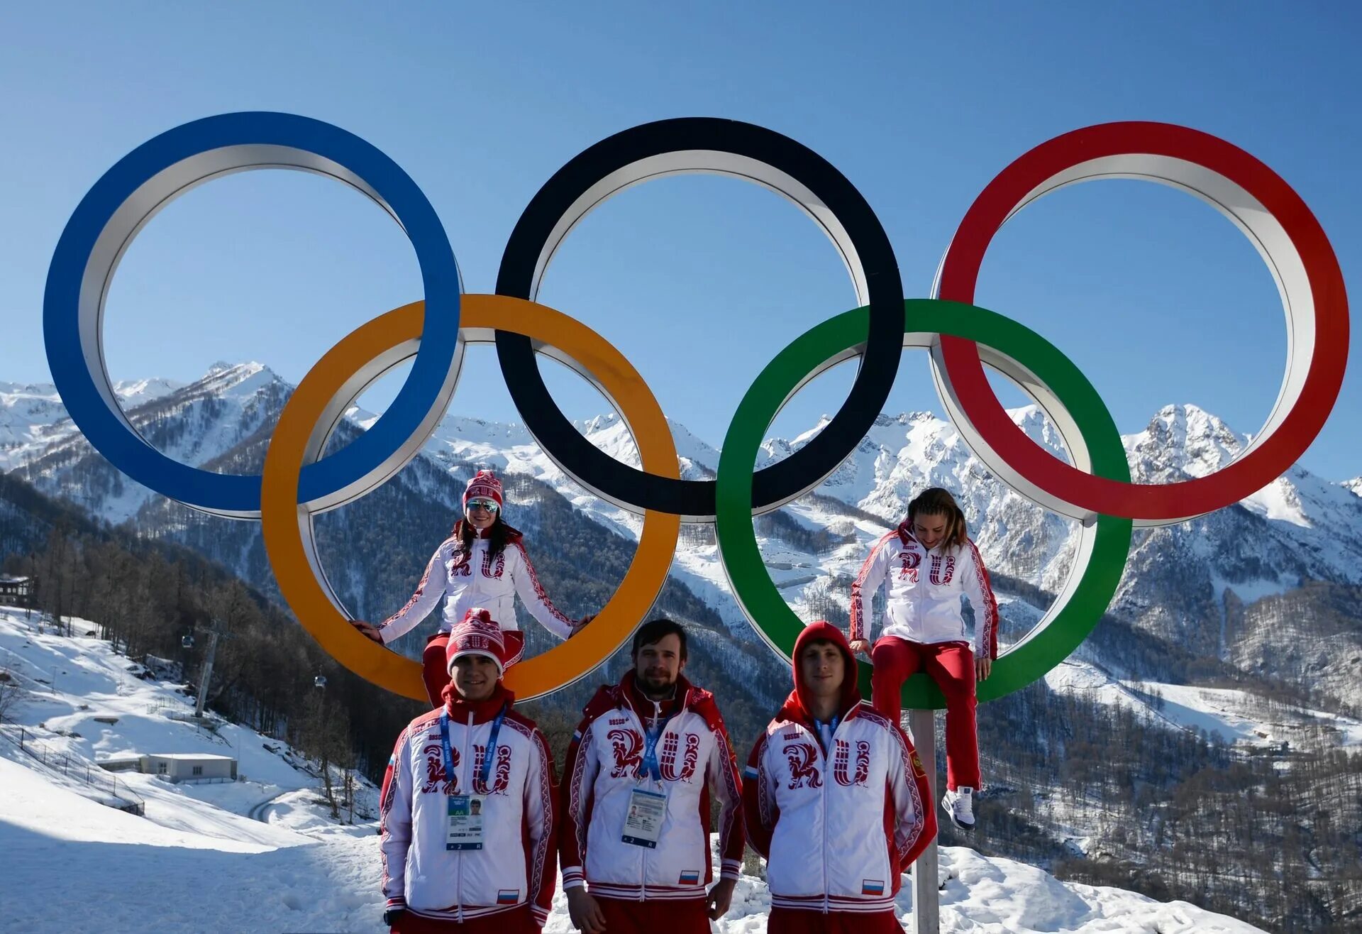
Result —
[[[10, 856], [0, 918], [10, 930], [380, 931], [375, 826], [316, 828], [270, 848], [158, 826], [104, 807], [0, 759], [0, 848]], [[962, 847], [941, 851], [941, 930], [974, 934], [1129, 931], [1249, 934], [1186, 903], [1060, 882]], [[906, 881], [907, 882], [907, 881]], [[911, 916], [911, 885], [898, 909]], [[765, 931], [770, 896], [744, 875], [720, 934]], [[554, 897], [545, 934], [572, 931]]]

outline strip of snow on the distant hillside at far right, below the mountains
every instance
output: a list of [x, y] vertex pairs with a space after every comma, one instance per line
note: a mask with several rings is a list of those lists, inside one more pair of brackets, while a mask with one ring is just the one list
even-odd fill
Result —
[[1200, 729], [1230, 744], [1295, 743], [1302, 738], [1302, 728], [1309, 728], [1331, 736], [1339, 746], [1362, 746], [1362, 721], [1290, 705], [1269, 706], [1249, 691], [1115, 680], [1095, 665], [1072, 660], [1047, 672], [1045, 682], [1053, 691], [1081, 693], [1103, 704], [1120, 704], [1165, 727]]

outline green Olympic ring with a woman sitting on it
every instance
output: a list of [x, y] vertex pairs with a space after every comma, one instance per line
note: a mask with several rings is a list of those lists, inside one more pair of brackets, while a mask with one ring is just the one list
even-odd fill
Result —
[[[776, 413], [808, 380], [850, 359], [869, 334], [869, 310], [857, 308], [805, 331], [767, 364], [742, 397], [723, 439], [716, 480], [715, 529], [719, 555], [733, 594], [748, 620], [779, 654], [790, 659], [794, 639], [805, 623], [786, 604], [767, 573], [752, 528], [752, 468], [765, 431]], [[1024, 374], [1019, 382], [1036, 395], [1049, 391], [1062, 412], [1050, 412], [1062, 423], [1066, 415], [1079, 438], [1066, 436], [1075, 461], [1091, 460], [1091, 470], [1107, 480], [1129, 481], [1130, 468], [1111, 413], [1096, 390], [1073, 363], [1049, 341], [997, 312], [956, 301], [910, 299], [903, 303], [904, 346], [932, 346], [938, 335], [975, 341], [981, 352]], [[1011, 375], [1011, 374], [1009, 374]], [[1042, 408], [1046, 408], [1043, 400]], [[1076, 440], [1081, 440], [1081, 450]], [[1026, 687], [1064, 661], [1096, 626], [1121, 582], [1130, 554], [1128, 518], [1098, 515], [1086, 544], [1090, 548], [1083, 574], [1071, 581], [1039, 623], [1016, 645], [998, 656], [990, 678], [978, 684], [978, 699], [992, 701]], [[1088, 532], [1088, 530], [1086, 530]], [[1079, 555], [1081, 560], [1083, 555]], [[869, 697], [870, 665], [859, 664], [862, 694]], [[903, 684], [903, 706], [940, 709], [945, 698], [926, 675]]]

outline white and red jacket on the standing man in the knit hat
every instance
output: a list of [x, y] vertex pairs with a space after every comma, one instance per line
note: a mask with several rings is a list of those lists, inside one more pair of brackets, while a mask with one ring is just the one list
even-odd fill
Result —
[[[524, 908], [543, 927], [556, 873], [553, 757], [534, 721], [509, 708], [497, 684], [479, 704], [445, 689], [445, 705], [413, 720], [383, 779], [379, 826], [388, 908], [441, 920]], [[493, 720], [505, 708], [494, 762], [478, 780]], [[454, 776], [445, 774], [440, 714], [449, 717]], [[486, 795], [484, 847], [445, 849], [447, 796]]]

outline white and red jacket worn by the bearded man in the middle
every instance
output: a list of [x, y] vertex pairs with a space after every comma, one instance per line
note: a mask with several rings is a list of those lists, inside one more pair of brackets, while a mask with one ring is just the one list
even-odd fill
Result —
[[[710, 788], [720, 806], [719, 875], [738, 878], [742, 779], [714, 695], [678, 678], [676, 698], [654, 702], [631, 671], [597, 691], [583, 713], [563, 779], [563, 888], [590, 882], [592, 896], [635, 901], [703, 899], [714, 879]], [[667, 809], [658, 847], [650, 849], [621, 836], [631, 792], [659, 791], [644, 769], [644, 736], [662, 720], [656, 759]]]

